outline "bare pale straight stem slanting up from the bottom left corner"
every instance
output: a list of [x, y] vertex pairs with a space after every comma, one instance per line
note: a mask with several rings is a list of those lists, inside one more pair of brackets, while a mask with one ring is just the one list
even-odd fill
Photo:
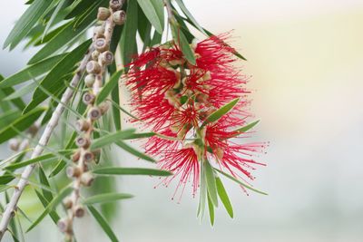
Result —
[[[93, 49], [91, 47], [90, 49]], [[67, 105], [67, 103], [70, 101], [74, 94], [74, 88], [78, 85], [78, 82], [80, 82], [81, 77], [83, 75], [83, 72], [85, 70], [85, 66], [88, 63], [90, 56], [91, 56], [92, 50], [89, 50], [85, 56], [83, 57], [83, 60], [78, 67], [76, 73], [74, 74], [74, 78], [72, 79], [72, 82], [70, 83], [70, 87], [68, 87], [61, 99], [61, 102], [58, 103], [57, 107], [55, 108], [55, 111], [52, 114], [51, 120], [48, 122], [48, 124], [45, 127], [45, 130], [36, 145], [34, 152], [32, 153], [31, 159], [34, 159], [42, 154], [44, 151], [44, 146], [48, 144], [48, 141], [54, 131], [54, 128], [57, 126], [58, 121], [60, 120], [62, 113], [64, 112], [64, 105]], [[10, 199], [10, 202], [6, 205], [5, 212], [3, 214], [3, 218], [0, 222], [0, 241], [2, 240], [5, 231], [9, 225], [10, 219], [14, 217], [15, 210], [17, 203], [19, 201], [19, 198], [21, 197], [26, 185], [28, 184], [28, 179], [31, 176], [34, 168], [36, 166], [36, 163], [29, 165], [25, 168], [25, 170], [22, 173], [21, 179], [18, 181], [17, 185], [15, 186], [15, 192], [13, 194], [13, 197]]]

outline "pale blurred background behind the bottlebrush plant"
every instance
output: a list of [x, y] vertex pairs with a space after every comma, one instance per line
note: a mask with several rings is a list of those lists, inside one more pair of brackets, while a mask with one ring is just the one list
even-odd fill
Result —
[[[184, 2], [211, 32], [234, 30], [232, 44], [248, 59], [242, 65], [253, 75], [251, 111], [261, 119], [253, 140], [270, 141], [260, 156], [268, 166], [253, 184], [270, 195], [246, 196], [226, 180], [235, 218], [221, 207], [211, 227], [207, 217], [196, 219], [198, 198], [188, 191], [179, 204], [173, 188], [153, 189], [157, 179], [120, 179], [120, 190], [135, 198], [120, 204], [117, 235], [128, 242], [363, 241], [363, 1]], [[1, 44], [23, 4], [0, 2]], [[22, 69], [34, 52], [0, 51], [0, 73]], [[144, 165], [120, 156], [126, 165]], [[85, 221], [77, 225], [79, 241], [108, 241]], [[29, 238], [62, 240], [50, 223]]]

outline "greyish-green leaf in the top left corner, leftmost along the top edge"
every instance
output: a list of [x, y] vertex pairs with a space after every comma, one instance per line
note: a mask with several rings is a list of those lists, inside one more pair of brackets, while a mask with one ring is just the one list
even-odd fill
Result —
[[7, 36], [3, 48], [11, 44], [10, 49], [15, 48], [34, 26], [34, 24], [46, 13], [46, 10], [52, 6], [49, 0], [36, 0], [30, 5], [25, 13], [16, 22], [15, 27]]

